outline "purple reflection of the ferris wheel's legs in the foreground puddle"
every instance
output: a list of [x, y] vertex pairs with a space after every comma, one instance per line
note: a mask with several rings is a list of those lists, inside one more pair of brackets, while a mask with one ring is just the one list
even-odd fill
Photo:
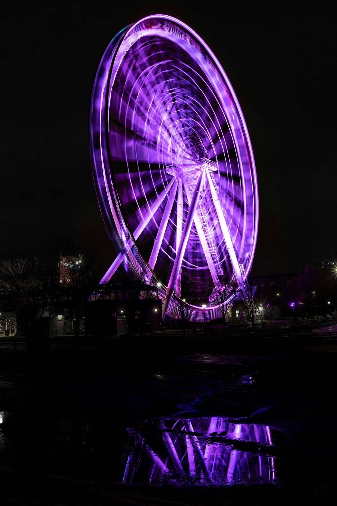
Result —
[[123, 483], [275, 482], [267, 426], [228, 423], [222, 417], [161, 419], [128, 432]]

